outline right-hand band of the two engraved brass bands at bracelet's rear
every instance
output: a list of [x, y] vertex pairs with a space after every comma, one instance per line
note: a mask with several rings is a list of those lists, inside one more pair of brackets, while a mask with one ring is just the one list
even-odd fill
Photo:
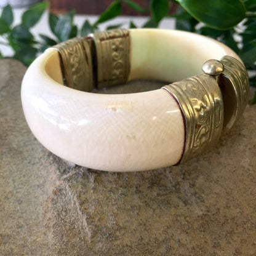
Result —
[[108, 30], [90, 34], [95, 41], [98, 81], [102, 88], [126, 82], [129, 75], [129, 31]]

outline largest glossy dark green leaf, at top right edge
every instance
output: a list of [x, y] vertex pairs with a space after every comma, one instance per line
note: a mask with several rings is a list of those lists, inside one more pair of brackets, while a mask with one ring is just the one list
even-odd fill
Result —
[[241, 0], [177, 0], [196, 20], [217, 30], [228, 30], [246, 17]]

